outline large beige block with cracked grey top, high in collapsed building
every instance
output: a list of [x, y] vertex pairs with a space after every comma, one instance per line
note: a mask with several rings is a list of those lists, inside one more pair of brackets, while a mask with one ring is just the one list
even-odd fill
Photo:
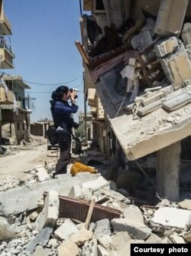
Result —
[[183, 43], [175, 38], [159, 41], [154, 47], [160, 64], [166, 74], [167, 80], [173, 84], [175, 90], [179, 89], [184, 80], [191, 78], [191, 62]]

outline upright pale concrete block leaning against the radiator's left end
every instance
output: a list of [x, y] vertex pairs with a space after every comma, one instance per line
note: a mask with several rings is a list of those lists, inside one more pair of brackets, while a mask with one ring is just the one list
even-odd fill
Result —
[[59, 215], [59, 204], [58, 192], [50, 190], [47, 193], [43, 211], [40, 212], [37, 220], [38, 231], [44, 227], [54, 228]]

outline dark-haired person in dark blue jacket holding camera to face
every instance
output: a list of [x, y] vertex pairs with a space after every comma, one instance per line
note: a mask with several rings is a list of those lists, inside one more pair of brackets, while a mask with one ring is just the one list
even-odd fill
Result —
[[[73, 113], [76, 113], [76, 90], [69, 90], [66, 86], [60, 86], [52, 93], [50, 110], [53, 116], [53, 123], [57, 133], [57, 141], [60, 148], [60, 159], [57, 162], [56, 175], [67, 172], [67, 165], [70, 162], [71, 136], [73, 129]], [[68, 102], [71, 100], [71, 103]]]

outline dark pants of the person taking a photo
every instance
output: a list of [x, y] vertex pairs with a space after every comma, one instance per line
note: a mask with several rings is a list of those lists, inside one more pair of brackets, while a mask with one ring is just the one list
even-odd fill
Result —
[[57, 131], [57, 139], [60, 148], [60, 159], [57, 162], [56, 173], [63, 174], [67, 172], [67, 165], [70, 161], [71, 135], [66, 130]]

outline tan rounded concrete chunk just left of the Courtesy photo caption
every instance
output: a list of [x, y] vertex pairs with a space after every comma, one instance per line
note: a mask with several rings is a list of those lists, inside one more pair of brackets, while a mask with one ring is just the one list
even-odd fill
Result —
[[112, 240], [112, 250], [118, 251], [121, 247], [123, 247], [125, 244], [127, 244], [129, 241], [131, 241], [130, 235], [128, 235], [128, 232], [122, 231], [118, 232], [116, 235], [111, 236]]

